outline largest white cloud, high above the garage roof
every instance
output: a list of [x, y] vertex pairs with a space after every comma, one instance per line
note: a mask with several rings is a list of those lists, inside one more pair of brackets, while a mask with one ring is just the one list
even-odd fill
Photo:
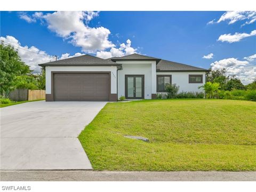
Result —
[[57, 11], [39, 15], [47, 23], [47, 27], [63, 39], [69, 39], [74, 46], [82, 47], [83, 52], [95, 53], [115, 45], [109, 41], [109, 29], [105, 27], [89, 27], [85, 23], [98, 16], [91, 11]]

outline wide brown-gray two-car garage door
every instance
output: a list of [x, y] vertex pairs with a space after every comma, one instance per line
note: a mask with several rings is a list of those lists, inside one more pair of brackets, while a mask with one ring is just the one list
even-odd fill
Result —
[[55, 101], [108, 101], [109, 74], [53, 74]]

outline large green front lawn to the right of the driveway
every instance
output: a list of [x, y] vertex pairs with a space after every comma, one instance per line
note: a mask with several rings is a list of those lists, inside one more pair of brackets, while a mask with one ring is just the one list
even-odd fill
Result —
[[256, 171], [256, 102], [108, 103], [78, 138], [94, 170]]

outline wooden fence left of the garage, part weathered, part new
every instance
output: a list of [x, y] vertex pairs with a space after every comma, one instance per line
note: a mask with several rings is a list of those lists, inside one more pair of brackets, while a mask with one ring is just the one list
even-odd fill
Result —
[[15, 89], [10, 92], [9, 98], [13, 101], [32, 101], [45, 99], [45, 90]]

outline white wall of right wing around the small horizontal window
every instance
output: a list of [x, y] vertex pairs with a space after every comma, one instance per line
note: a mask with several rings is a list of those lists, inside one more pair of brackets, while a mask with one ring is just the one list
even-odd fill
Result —
[[[172, 75], [172, 84], [180, 86], [179, 92], [201, 92], [203, 89], [198, 89], [198, 86], [205, 84], [205, 72], [157, 72], [156, 75]], [[188, 83], [188, 75], [203, 75], [203, 83]]]

